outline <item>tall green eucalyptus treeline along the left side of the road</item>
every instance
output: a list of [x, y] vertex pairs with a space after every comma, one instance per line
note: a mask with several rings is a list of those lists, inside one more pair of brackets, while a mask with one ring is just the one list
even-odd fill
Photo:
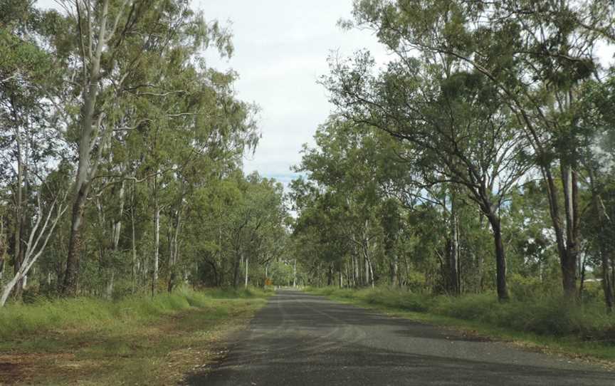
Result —
[[241, 172], [257, 108], [204, 56], [231, 33], [189, 3], [0, 2], [0, 305], [247, 286], [282, 256], [282, 187]]

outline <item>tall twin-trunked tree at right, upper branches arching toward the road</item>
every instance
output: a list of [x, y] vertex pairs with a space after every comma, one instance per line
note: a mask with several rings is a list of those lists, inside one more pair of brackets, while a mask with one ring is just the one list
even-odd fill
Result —
[[612, 11], [606, 0], [354, 3], [356, 24], [374, 30], [401, 61], [417, 52], [444, 56], [482, 75], [508, 105], [545, 179], [562, 286], [571, 301], [581, 244], [581, 165], [570, 107], [579, 85], [599, 71], [599, 47], [614, 42]]

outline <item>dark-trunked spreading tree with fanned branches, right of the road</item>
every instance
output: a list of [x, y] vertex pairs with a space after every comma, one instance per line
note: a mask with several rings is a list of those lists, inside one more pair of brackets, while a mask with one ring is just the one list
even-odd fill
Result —
[[[426, 189], [455, 184], [466, 189], [493, 231], [498, 298], [508, 298], [506, 259], [498, 214], [503, 199], [529, 168], [525, 138], [497, 90], [475, 72], [451, 71], [428, 58], [392, 61], [381, 74], [357, 53], [332, 66], [325, 83], [348, 120], [377, 127], [404, 143], [399, 157]], [[451, 239], [457, 240], [456, 189], [451, 187]], [[451, 277], [457, 276], [457, 247]], [[458, 288], [457, 283], [453, 283]]]

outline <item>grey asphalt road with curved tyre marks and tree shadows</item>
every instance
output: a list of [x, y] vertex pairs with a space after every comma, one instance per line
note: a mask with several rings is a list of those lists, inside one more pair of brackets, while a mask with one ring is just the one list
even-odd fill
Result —
[[191, 385], [615, 385], [615, 373], [280, 291]]

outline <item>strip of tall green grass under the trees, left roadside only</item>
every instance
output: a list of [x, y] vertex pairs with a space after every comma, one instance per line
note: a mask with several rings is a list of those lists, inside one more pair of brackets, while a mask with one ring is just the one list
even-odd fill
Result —
[[156, 296], [130, 296], [120, 301], [100, 298], [38, 299], [0, 308], [0, 340], [11, 340], [48, 330], [101, 330], [140, 325], [189, 308], [208, 308], [214, 299], [264, 297], [257, 288], [241, 290], [180, 289]]

